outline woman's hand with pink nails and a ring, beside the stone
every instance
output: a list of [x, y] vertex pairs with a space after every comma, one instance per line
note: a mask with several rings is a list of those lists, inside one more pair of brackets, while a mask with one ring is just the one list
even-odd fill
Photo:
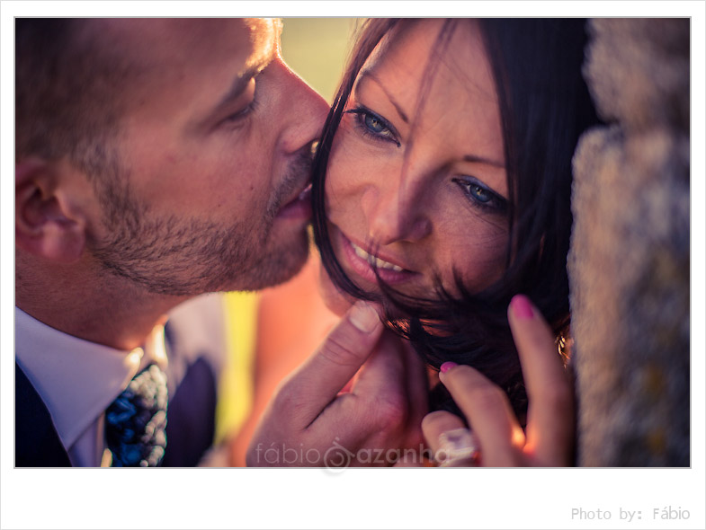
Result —
[[529, 399], [526, 433], [496, 384], [474, 368], [444, 363], [439, 374], [442, 384], [473, 433], [469, 437], [468, 429], [451, 412], [434, 411], [424, 417], [424, 437], [436, 460], [445, 459], [442, 465], [553, 467], [573, 463], [573, 384], [550, 327], [526, 296], [514, 296], [507, 316]]

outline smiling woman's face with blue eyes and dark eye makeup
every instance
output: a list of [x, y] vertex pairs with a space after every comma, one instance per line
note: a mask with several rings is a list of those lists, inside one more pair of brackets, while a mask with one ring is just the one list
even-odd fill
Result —
[[[431, 61], [442, 21], [412, 22], [389, 46], [383, 40], [346, 104], [329, 158], [326, 216], [338, 261], [363, 289], [377, 288], [373, 260], [390, 286], [426, 298], [435, 278], [455, 292], [454, 269], [471, 291], [504, 270], [500, 110], [478, 24], [464, 23]], [[344, 311], [322, 276], [327, 303]]]

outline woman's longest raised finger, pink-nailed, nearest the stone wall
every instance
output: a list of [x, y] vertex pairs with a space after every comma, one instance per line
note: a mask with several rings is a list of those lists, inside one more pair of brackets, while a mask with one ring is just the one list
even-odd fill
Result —
[[514, 296], [507, 314], [530, 403], [525, 450], [540, 465], [569, 464], [574, 441], [574, 393], [554, 336], [526, 296]]

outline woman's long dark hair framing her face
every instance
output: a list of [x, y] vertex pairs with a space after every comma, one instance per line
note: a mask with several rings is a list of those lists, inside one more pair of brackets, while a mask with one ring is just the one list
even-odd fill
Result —
[[[435, 298], [419, 299], [380, 281], [382, 296], [368, 293], [345, 275], [328, 239], [324, 193], [328, 155], [356, 76], [386, 35], [391, 36], [386, 45], [394, 46], [392, 31], [414, 20], [371, 19], [359, 32], [314, 162], [315, 239], [335, 284], [352, 296], [382, 302], [389, 327], [411, 340], [430, 366], [438, 368], [452, 360], [476, 367], [505, 389], [523, 416], [526, 395], [506, 311], [512, 296], [523, 293], [557, 334], [566, 331], [569, 322], [571, 159], [580, 134], [596, 122], [581, 75], [585, 21], [478, 21], [495, 78], [504, 137], [510, 234], [505, 272], [480, 292], [470, 292], [457, 273], [457, 294], [439, 284]], [[443, 53], [454, 31], [470, 31], [466, 22], [445, 20], [430, 57]], [[452, 408], [448, 395], [442, 401], [439, 408]]]

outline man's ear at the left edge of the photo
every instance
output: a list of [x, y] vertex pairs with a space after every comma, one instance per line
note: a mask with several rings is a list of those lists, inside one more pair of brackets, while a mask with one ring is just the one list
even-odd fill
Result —
[[47, 260], [69, 263], [84, 252], [86, 219], [75, 208], [67, 165], [26, 159], [14, 166], [15, 244]]

